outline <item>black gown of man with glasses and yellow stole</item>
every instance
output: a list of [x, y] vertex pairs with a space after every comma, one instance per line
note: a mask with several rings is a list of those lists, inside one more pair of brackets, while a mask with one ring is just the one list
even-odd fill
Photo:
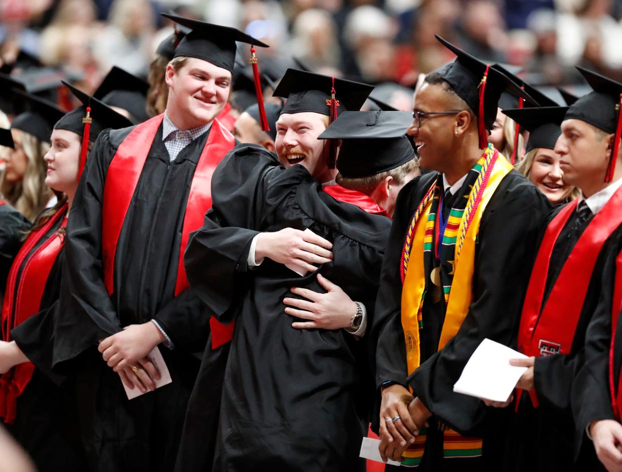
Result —
[[[434, 172], [415, 178], [397, 198], [376, 301], [378, 317], [387, 320], [383, 326], [378, 326], [376, 386], [385, 381], [404, 386], [409, 384], [415, 396], [432, 412], [426, 451], [419, 466], [421, 470], [498, 471], [504, 438], [501, 423], [508, 412], [487, 411], [481, 400], [454, 393], [453, 384], [484, 338], [505, 345], [514, 343], [529, 269], [536, 254], [535, 243], [550, 205], [544, 195], [518, 172], [512, 171], [503, 178], [481, 218], [469, 313], [458, 334], [437, 352], [445, 320], [445, 304], [443, 301], [434, 304], [426, 295], [424, 327], [419, 331], [421, 364], [411, 376], [407, 376], [399, 264], [412, 215], [437, 175]], [[417, 257], [421, 256], [417, 254]], [[372, 418], [376, 430], [379, 398], [378, 394], [376, 413]], [[483, 457], [443, 461], [439, 421], [463, 435], [483, 437]]]

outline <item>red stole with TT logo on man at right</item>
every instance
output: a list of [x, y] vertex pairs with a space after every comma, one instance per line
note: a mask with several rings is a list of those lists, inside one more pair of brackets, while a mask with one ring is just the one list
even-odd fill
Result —
[[[606, 239], [622, 224], [622, 188], [619, 188], [579, 237], [543, 307], [555, 242], [575, 214], [577, 205], [578, 201], [569, 203], [549, 223], [531, 271], [518, 332], [519, 351], [527, 356], [570, 353], [598, 254]], [[517, 395], [517, 401], [521, 394]], [[536, 391], [529, 391], [529, 396], [537, 407]]]

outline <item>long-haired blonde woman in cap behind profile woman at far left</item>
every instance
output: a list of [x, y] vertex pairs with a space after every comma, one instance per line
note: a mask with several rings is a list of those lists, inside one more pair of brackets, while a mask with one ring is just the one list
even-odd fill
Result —
[[0, 182], [0, 194], [30, 221], [49, 204], [52, 192], [45, 186], [44, 155], [50, 148], [52, 127], [65, 112], [57, 106], [40, 106], [14, 89], [25, 108], [11, 123], [14, 149], [9, 152]]

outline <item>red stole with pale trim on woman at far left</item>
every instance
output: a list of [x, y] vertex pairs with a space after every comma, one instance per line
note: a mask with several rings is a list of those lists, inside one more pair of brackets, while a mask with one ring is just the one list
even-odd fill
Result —
[[[59, 228], [36, 251], [29, 253], [62, 218]], [[67, 226], [67, 204], [54, 213], [45, 224], [29, 234], [11, 266], [2, 305], [2, 340], [11, 341], [11, 330], [39, 312], [45, 284], [58, 252], [65, 244], [62, 231]], [[32, 363], [17, 364], [0, 377], [0, 417], [12, 423], [17, 414], [17, 397], [32, 379]]]

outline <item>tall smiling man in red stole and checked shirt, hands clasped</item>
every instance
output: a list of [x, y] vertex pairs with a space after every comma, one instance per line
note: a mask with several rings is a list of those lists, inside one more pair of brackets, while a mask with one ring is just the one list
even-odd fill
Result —
[[[183, 251], [211, 206], [213, 170], [234, 146], [215, 116], [230, 92], [236, 41], [265, 46], [233, 28], [165, 16], [192, 29], [167, 66], [165, 113], [101, 133], [67, 227], [54, 364], [80, 370], [81, 435], [97, 471], [174, 466], [199, 367], [193, 353], [200, 358], [210, 333]], [[123, 384], [154, 389], [159, 373], [146, 356], [158, 345], [172, 383], [128, 400]]]

